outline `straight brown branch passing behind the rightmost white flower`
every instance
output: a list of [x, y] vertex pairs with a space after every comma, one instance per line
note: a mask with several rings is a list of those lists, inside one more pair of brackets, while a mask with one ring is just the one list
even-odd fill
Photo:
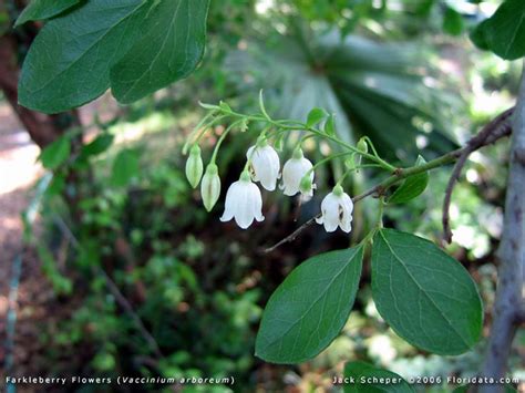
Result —
[[[420, 173], [423, 173], [423, 172], [428, 172], [430, 169], [434, 169], [436, 167], [440, 167], [440, 166], [443, 166], [443, 165], [446, 165], [446, 164], [450, 164], [450, 163], [453, 163], [457, 158], [462, 157], [465, 154], [464, 152], [467, 151], [467, 149], [470, 149], [470, 152], [469, 152], [469, 154], [470, 154], [470, 153], [478, 149], [480, 147], [490, 145], [490, 144], [496, 142], [497, 139], [500, 139], [504, 136], [507, 136], [511, 133], [511, 128], [507, 125], [507, 120], [511, 116], [512, 111], [513, 111], [513, 108], [509, 108], [509, 110], [503, 112], [493, 122], [491, 122], [485, 127], [483, 127], [482, 132], [480, 132], [478, 135], [474, 136], [471, 141], [469, 141], [469, 143], [466, 144], [465, 147], [449, 152], [449, 153], [446, 153], [446, 154], [444, 154], [444, 155], [442, 155], [437, 158], [434, 158], [434, 159], [432, 159], [432, 161], [430, 161], [430, 162], [428, 162], [426, 164], [423, 164], [423, 165], [412, 166], [412, 167], [409, 167], [409, 168], [397, 168], [391, 176], [387, 177], [383, 182], [375, 185], [374, 187], [372, 187], [372, 188], [366, 190], [364, 193], [353, 197], [352, 201], [356, 204], [359, 200], [362, 200], [366, 197], [371, 196], [371, 195], [373, 195], [375, 197], [379, 197], [379, 196], [383, 195], [388, 190], [388, 188], [390, 188], [391, 186], [395, 185], [397, 183], [405, 179], [406, 177], [410, 177], [410, 176], [413, 176], [413, 175], [416, 175], [416, 174], [420, 174]], [[497, 124], [496, 126], [494, 125], [495, 122]], [[493, 126], [490, 126], [491, 124]], [[483, 134], [483, 137], [481, 136], [482, 134]], [[469, 154], [465, 155], [464, 159], [466, 159]], [[461, 170], [461, 168], [459, 170]], [[297, 228], [294, 232], [288, 235], [286, 238], [284, 238], [282, 240], [280, 240], [276, 245], [267, 248], [265, 250], [265, 252], [271, 252], [275, 249], [277, 249], [278, 247], [280, 247], [280, 246], [282, 246], [287, 242], [294, 241], [295, 239], [297, 239], [297, 237], [302, 231], [305, 231], [305, 229], [307, 229], [310, 225], [312, 225], [316, 221], [316, 218], [319, 218], [319, 217], [321, 217], [321, 214], [318, 214], [317, 216], [310, 218], [308, 221], [302, 224], [299, 228]]]

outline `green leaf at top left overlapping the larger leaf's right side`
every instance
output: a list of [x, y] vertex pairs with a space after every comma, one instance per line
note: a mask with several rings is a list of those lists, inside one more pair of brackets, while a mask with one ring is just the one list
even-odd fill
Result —
[[203, 58], [209, 0], [155, 1], [141, 38], [111, 70], [111, 86], [131, 103], [189, 75]]

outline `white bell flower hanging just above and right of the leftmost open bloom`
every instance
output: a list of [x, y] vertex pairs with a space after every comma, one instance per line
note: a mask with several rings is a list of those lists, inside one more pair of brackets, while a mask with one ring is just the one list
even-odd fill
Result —
[[248, 148], [246, 157], [251, 162], [254, 182], [260, 182], [267, 190], [276, 189], [279, 178], [279, 156], [274, 147], [266, 141], [258, 142], [257, 145]]

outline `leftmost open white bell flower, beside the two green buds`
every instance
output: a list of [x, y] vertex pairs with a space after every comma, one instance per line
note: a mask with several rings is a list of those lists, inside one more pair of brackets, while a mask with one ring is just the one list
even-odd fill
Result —
[[250, 174], [244, 170], [240, 178], [233, 183], [226, 193], [226, 204], [223, 217], [223, 223], [235, 218], [235, 223], [243, 228], [248, 228], [254, 219], [262, 221], [262, 197], [260, 189], [251, 183]]

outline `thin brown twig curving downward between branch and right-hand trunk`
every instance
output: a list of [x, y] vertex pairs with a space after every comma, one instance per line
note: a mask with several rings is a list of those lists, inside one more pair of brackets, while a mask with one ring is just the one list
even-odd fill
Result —
[[486, 124], [476, 136], [471, 138], [466, 146], [462, 149], [462, 153], [454, 165], [454, 169], [452, 169], [452, 175], [449, 179], [449, 184], [446, 185], [445, 197], [443, 199], [442, 223], [444, 241], [449, 244], [452, 241], [452, 230], [450, 227], [450, 206], [452, 200], [452, 192], [460, 179], [461, 172], [463, 170], [469, 156], [480, 147], [494, 143], [497, 141], [497, 138], [511, 134], [512, 127], [509, 124], [509, 117], [512, 116], [513, 111], [514, 107], [511, 107], [496, 116], [493, 121]]

